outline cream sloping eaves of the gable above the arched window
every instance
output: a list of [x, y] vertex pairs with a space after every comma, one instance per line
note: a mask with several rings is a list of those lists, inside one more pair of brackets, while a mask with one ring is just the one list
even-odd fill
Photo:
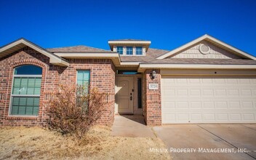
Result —
[[19, 49], [22, 49], [23, 47], [31, 47], [32, 49], [36, 50], [37, 52], [41, 53], [42, 55], [45, 55], [49, 57], [49, 63], [52, 63], [54, 65], [62, 65], [62, 66], [68, 66], [68, 62], [64, 60], [62, 57], [59, 57], [57, 55], [52, 54], [51, 52], [48, 52], [47, 50], [39, 47], [36, 44], [33, 44], [31, 41], [28, 41], [27, 39], [17, 39], [16, 41], [13, 41], [7, 45], [4, 45], [0, 48], [0, 58], [5, 57], [9, 54], [12, 54], [12, 52], [16, 52]]

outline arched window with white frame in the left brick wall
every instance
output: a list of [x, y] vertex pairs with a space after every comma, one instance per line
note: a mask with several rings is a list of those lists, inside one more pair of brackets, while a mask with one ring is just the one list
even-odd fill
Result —
[[14, 70], [10, 115], [37, 116], [41, 91], [42, 68], [21, 65]]

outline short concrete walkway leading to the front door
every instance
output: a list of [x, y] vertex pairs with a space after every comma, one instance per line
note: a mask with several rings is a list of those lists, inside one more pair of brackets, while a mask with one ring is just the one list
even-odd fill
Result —
[[156, 137], [151, 127], [145, 126], [143, 116], [115, 116], [112, 135], [120, 137]]

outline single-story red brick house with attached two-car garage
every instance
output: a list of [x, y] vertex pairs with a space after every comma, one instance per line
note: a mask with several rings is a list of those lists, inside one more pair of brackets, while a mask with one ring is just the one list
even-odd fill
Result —
[[59, 84], [108, 93], [100, 124], [116, 113], [148, 125], [256, 122], [256, 57], [204, 35], [172, 51], [151, 41], [44, 49], [26, 39], [0, 48], [0, 125], [39, 125]]

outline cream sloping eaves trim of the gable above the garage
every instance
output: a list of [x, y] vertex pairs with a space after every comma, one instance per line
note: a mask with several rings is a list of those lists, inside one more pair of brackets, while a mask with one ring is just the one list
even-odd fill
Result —
[[173, 49], [172, 51], [167, 52], [166, 54], [160, 55], [156, 59], [161, 60], [166, 57], [176, 55], [177, 53], [183, 52], [186, 49], [189, 49], [189, 48], [193, 47], [194, 45], [199, 44], [201, 41], [208, 41], [209, 43], [214, 44], [217, 47], [223, 48], [223, 49], [227, 50], [228, 52], [231, 52], [235, 55], [239, 55], [240, 57], [244, 57], [246, 59], [251, 59], [251, 60], [256, 60], [256, 57], [249, 55], [248, 53], [243, 52], [240, 49], [237, 49], [235, 47], [232, 47], [231, 45], [226, 44], [225, 42], [220, 41], [218, 39], [215, 39], [214, 37], [209, 36], [207, 34], [199, 37], [198, 39], [195, 39], [195, 40], [189, 42], [188, 44], [184, 44], [183, 46], [178, 47], [177, 49]]

